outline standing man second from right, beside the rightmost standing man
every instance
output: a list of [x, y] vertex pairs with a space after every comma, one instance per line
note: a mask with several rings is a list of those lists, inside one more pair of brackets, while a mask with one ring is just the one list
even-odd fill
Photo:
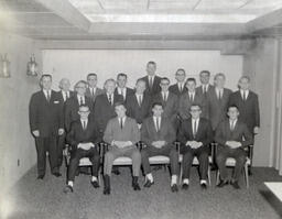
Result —
[[229, 97], [232, 94], [230, 89], [225, 88], [225, 75], [218, 73], [215, 75], [215, 87], [207, 94], [208, 118], [212, 122], [213, 131], [226, 119]]

